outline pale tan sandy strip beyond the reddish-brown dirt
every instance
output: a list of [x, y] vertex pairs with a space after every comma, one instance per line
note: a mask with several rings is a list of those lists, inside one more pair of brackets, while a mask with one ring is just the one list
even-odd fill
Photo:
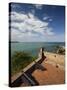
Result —
[[44, 52], [44, 55], [47, 57], [46, 63], [52, 65], [57, 65], [60, 69], [65, 69], [65, 55], [60, 55], [52, 52]]

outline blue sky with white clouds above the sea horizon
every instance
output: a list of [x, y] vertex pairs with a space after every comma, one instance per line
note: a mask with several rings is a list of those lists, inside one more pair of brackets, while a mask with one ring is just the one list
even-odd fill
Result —
[[64, 42], [65, 7], [43, 4], [9, 4], [11, 41]]

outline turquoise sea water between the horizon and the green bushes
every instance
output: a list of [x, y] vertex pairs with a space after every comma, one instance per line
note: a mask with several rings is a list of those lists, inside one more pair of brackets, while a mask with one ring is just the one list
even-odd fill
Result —
[[55, 46], [65, 46], [64, 42], [19, 42], [11, 43], [11, 56], [15, 51], [24, 51], [31, 53], [31, 55], [37, 56], [41, 47], [44, 47], [45, 51], [55, 52]]

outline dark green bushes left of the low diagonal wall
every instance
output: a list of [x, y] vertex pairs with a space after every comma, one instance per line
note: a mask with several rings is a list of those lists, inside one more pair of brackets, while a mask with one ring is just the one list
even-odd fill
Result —
[[11, 58], [11, 75], [20, 72], [35, 59], [36, 57], [33, 57], [29, 53], [15, 52]]

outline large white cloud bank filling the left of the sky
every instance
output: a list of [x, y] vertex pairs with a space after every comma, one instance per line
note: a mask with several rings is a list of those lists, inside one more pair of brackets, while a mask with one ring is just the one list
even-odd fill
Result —
[[22, 40], [24, 38], [22, 41], [25, 41], [25, 39], [35, 41], [39, 37], [42, 39], [45, 35], [54, 35], [52, 28], [49, 27], [49, 22], [41, 21], [32, 13], [24, 14], [13, 11], [10, 17], [12, 40]]

